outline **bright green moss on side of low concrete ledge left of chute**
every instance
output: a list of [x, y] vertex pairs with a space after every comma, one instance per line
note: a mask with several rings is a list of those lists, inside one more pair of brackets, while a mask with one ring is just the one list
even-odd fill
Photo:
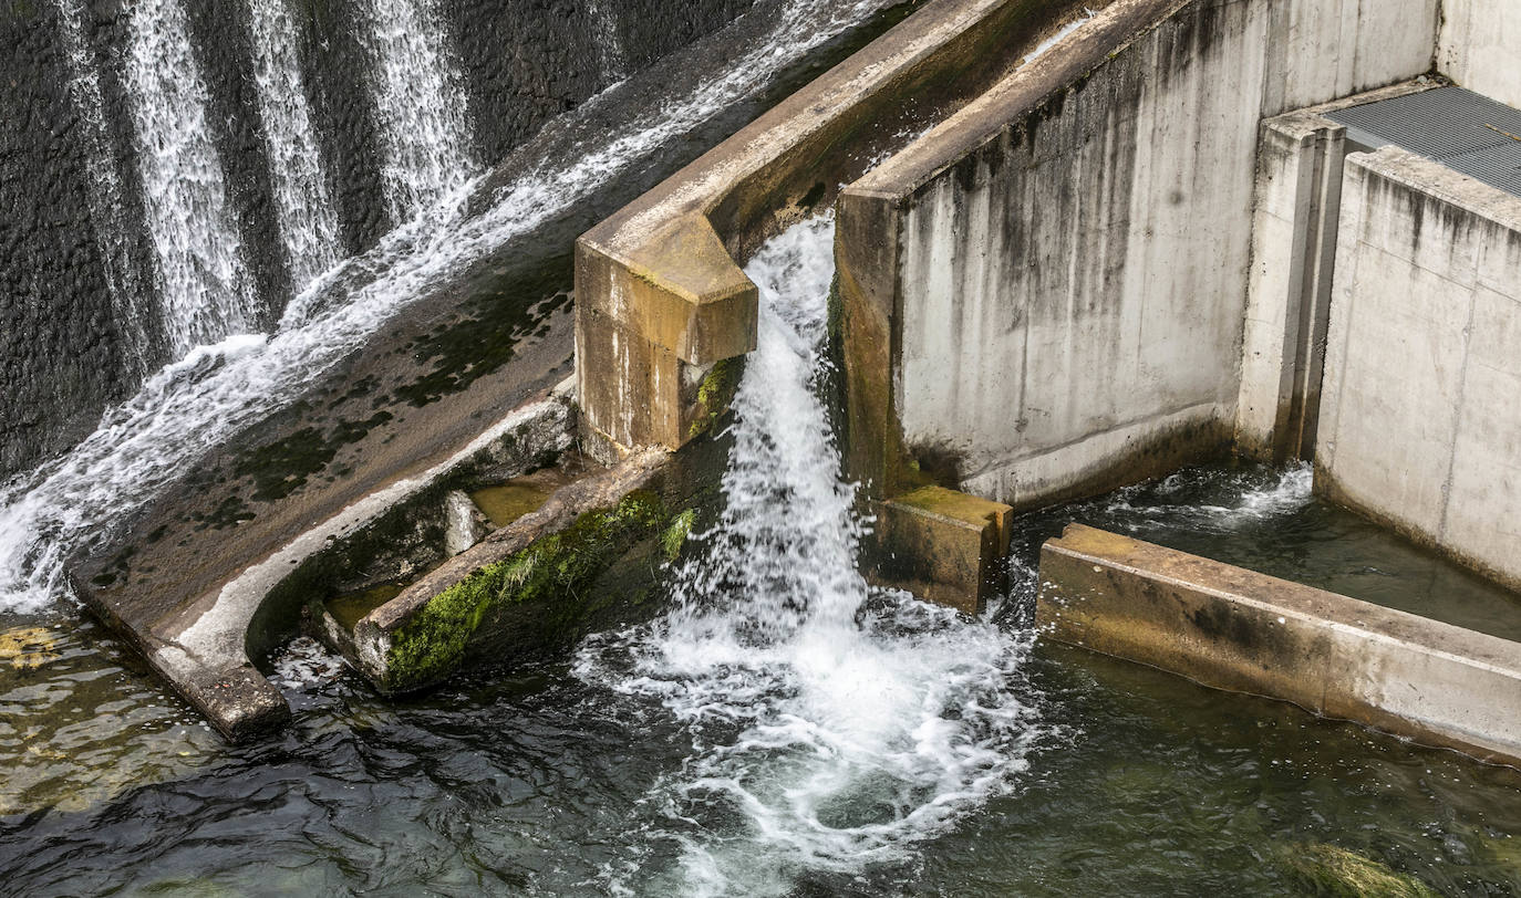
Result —
[[631, 492], [616, 506], [586, 512], [564, 530], [444, 590], [392, 634], [388, 691], [438, 682], [459, 667], [484, 626], [514, 609], [528, 612], [535, 641], [561, 641], [610, 602], [596, 588], [604, 571], [656, 536], [662, 549], [674, 542], [680, 550], [683, 520], [691, 527], [686, 514], [672, 521], [656, 494]]

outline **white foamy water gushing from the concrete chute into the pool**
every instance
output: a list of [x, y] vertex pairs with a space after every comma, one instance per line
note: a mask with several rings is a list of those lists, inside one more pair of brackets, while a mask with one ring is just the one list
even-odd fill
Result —
[[735, 400], [727, 509], [677, 571], [677, 609], [580, 652], [578, 676], [659, 699], [692, 738], [648, 798], [678, 868], [608, 872], [611, 890], [785, 893], [805, 871], [902, 860], [1010, 789], [1040, 732], [1015, 693], [1027, 643], [873, 594], [856, 570], [855, 491], [815, 383], [832, 236], [805, 222], [745, 269], [759, 346]]

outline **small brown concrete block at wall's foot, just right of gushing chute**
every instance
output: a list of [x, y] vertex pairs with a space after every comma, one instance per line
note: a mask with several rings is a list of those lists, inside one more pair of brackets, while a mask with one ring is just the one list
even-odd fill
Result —
[[941, 486], [884, 501], [878, 577], [916, 596], [980, 614], [1004, 591], [1013, 509]]

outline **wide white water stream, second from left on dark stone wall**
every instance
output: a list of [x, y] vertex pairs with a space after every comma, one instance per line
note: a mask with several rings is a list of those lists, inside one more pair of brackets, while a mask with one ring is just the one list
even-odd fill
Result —
[[131, 6], [123, 77], [132, 106], [143, 207], [158, 264], [169, 354], [259, 327], [222, 160], [207, 123], [207, 88], [179, 0]]

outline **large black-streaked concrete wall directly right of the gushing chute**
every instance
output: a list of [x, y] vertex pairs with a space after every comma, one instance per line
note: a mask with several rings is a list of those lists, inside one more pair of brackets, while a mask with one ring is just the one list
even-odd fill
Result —
[[1028, 506], [1223, 448], [1259, 119], [1425, 71], [1433, 33], [1431, 0], [1124, 0], [853, 184], [855, 476], [911, 480], [900, 439]]

